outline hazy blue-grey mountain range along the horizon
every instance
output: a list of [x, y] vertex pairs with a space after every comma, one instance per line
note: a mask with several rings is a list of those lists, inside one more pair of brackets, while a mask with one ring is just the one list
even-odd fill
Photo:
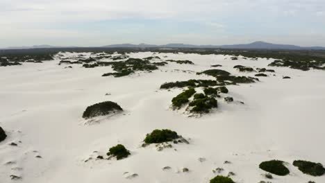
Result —
[[[35, 46], [19, 46], [8, 47], [5, 49], [49, 49], [49, 48], [75, 48], [78, 46], [51, 46], [51, 45], [35, 45]], [[96, 47], [96, 46], [95, 46]], [[272, 44], [268, 42], [252, 42], [250, 44], [233, 44], [233, 45], [194, 45], [194, 44], [110, 44], [106, 46], [100, 46], [102, 48], [197, 48], [197, 49], [288, 49], [288, 50], [325, 50], [325, 47], [321, 46], [295, 46], [290, 44]]]

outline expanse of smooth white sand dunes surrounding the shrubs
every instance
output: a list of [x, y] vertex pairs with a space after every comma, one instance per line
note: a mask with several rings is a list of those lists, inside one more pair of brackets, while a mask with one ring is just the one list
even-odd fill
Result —
[[[151, 55], [130, 54], [132, 58]], [[0, 182], [12, 182], [9, 176], [19, 175], [22, 179], [17, 181], [33, 183], [206, 183], [217, 175], [212, 170], [220, 167], [224, 168], [221, 175], [232, 171], [235, 182], [252, 183], [265, 180], [258, 164], [271, 159], [288, 162], [290, 169], [290, 175], [274, 175], [272, 182], [325, 182], [325, 176], [305, 175], [292, 166], [295, 159], [325, 164], [324, 71], [268, 67], [276, 70], [276, 76], [272, 73], [260, 82], [228, 86], [230, 92], [223, 96], [233, 96], [244, 105], [219, 100], [212, 113], [189, 118], [169, 109], [181, 89], [160, 90], [161, 84], [213, 79], [195, 74], [210, 69], [211, 64], [222, 64], [220, 69], [235, 75], [253, 76], [239, 73], [233, 66], [267, 67], [272, 60], [156, 55], [167, 55], [164, 60], [192, 60], [194, 65], [169, 63], [152, 73], [137, 72], [122, 78], [101, 77], [112, 71], [110, 67], [85, 69], [74, 64], [72, 69], [63, 69], [67, 65], [59, 66], [58, 59], [0, 67], [0, 126], [8, 134], [0, 143]], [[292, 79], [283, 80], [282, 76]], [[124, 112], [83, 125], [85, 108], [102, 101], [114, 101]], [[190, 144], [178, 143], [173, 145], [176, 150], [163, 151], [140, 147], [147, 133], [166, 128], [190, 138]], [[18, 146], [9, 146], [11, 142]], [[84, 162], [91, 156], [105, 155], [117, 143], [131, 150], [131, 156], [119, 161]], [[199, 162], [200, 157], [206, 161]], [[231, 164], [224, 164], [226, 160]], [[163, 171], [165, 166], [171, 169]], [[190, 171], [181, 172], [184, 167]], [[126, 178], [133, 173], [138, 177]]]

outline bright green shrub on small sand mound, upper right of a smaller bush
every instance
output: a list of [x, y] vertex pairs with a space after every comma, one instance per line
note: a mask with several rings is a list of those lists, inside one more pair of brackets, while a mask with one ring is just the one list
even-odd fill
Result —
[[150, 134], [147, 134], [147, 137], [144, 139], [145, 143], [162, 143], [166, 141], [173, 141], [178, 139], [178, 134], [172, 130], [153, 130]]

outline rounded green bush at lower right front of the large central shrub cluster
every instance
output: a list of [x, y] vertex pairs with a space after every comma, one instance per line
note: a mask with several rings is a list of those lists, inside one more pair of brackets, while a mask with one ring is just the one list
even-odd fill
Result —
[[210, 96], [205, 96], [204, 94], [197, 94], [197, 98], [194, 96], [194, 100], [189, 104], [192, 109], [190, 112], [197, 113], [208, 113], [213, 107], [218, 107], [217, 100]]

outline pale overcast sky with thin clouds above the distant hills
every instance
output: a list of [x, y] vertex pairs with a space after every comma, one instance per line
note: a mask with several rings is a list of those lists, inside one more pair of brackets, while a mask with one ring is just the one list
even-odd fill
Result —
[[325, 0], [0, 0], [0, 47], [325, 46]]

